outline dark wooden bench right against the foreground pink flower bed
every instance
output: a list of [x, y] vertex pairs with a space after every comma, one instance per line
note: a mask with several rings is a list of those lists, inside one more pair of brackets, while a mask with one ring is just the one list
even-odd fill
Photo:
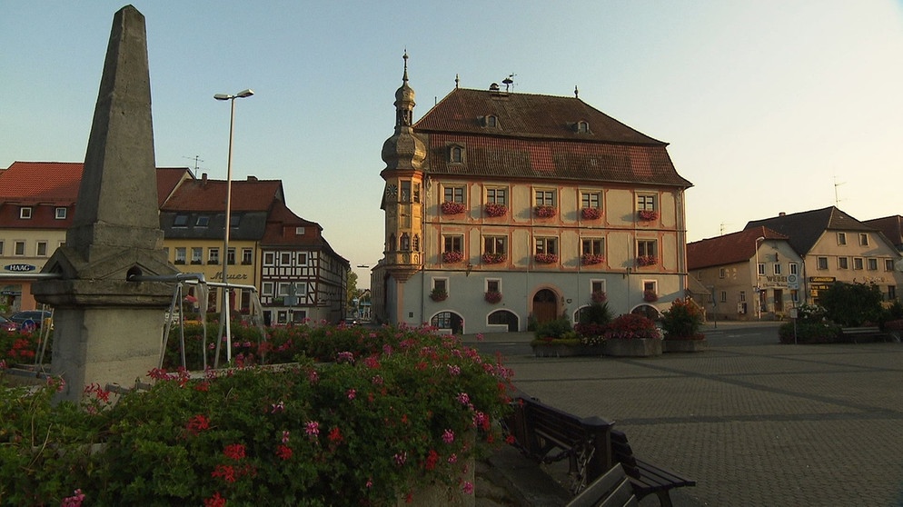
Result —
[[514, 445], [537, 462], [568, 460], [571, 494], [611, 468], [611, 422], [599, 417], [577, 417], [535, 398], [519, 394], [514, 411], [503, 421]]

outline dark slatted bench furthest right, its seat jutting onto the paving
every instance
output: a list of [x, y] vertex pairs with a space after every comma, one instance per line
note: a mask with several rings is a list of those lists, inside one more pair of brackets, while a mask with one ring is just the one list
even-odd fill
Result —
[[627, 435], [618, 430], [611, 430], [611, 456], [615, 462], [624, 467], [624, 472], [630, 477], [633, 484], [633, 492], [641, 500], [650, 493], [659, 497], [663, 507], [670, 507], [670, 490], [683, 486], [695, 486], [696, 481], [680, 477], [674, 472], [655, 466], [650, 462], [644, 462], [633, 455]]

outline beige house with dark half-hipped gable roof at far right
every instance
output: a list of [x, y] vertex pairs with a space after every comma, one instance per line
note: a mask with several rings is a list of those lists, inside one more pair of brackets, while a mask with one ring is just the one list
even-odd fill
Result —
[[761, 227], [786, 235], [802, 258], [801, 288], [806, 303], [818, 303], [819, 291], [834, 282], [874, 283], [886, 300], [898, 298], [903, 273], [895, 264], [900, 253], [877, 228], [834, 206], [779, 214], [746, 225], [748, 230]]

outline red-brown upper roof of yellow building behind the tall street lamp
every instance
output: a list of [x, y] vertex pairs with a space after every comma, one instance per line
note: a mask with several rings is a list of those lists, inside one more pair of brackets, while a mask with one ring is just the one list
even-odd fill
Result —
[[[164, 212], [216, 212], [225, 209], [226, 182], [202, 178], [179, 185], [160, 207]], [[233, 212], [268, 211], [274, 201], [283, 200], [280, 180], [240, 180], [232, 182]]]

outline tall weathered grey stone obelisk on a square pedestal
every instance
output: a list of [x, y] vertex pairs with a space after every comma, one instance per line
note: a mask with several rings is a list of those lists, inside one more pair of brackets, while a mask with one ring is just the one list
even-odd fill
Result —
[[55, 307], [63, 399], [92, 383], [133, 386], [157, 366], [173, 284], [127, 280], [178, 273], [163, 251], [156, 188], [144, 15], [126, 5], [114, 15], [73, 225], [44, 268], [60, 277], [33, 288]]

